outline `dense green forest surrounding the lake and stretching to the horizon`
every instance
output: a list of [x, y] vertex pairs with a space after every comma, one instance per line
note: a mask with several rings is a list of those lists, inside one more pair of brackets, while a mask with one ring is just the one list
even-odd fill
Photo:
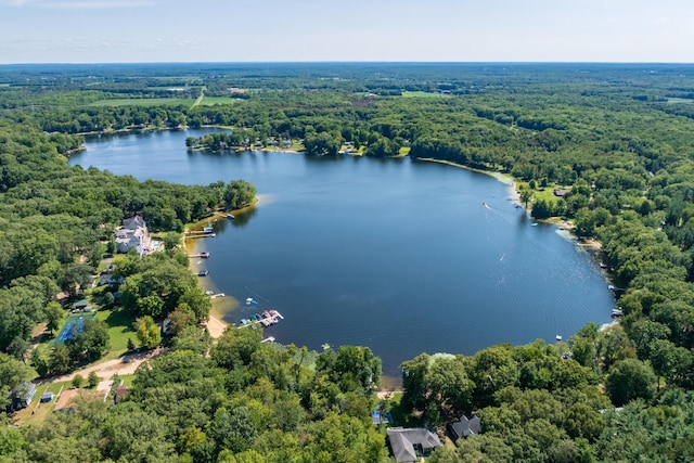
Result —
[[[422, 353], [403, 394], [380, 400], [368, 347], [320, 355], [197, 327], [209, 298], [174, 246], [118, 260], [118, 301], [155, 347], [115, 406], [0, 430], [2, 461], [385, 461], [385, 432], [472, 413], [481, 433], [429, 461], [691, 461], [694, 458], [694, 66], [589, 64], [162, 64], [0, 67], [0, 397], [106, 350], [99, 323], [48, 358], [60, 292], [79, 297], [121, 219], [181, 230], [247, 204], [240, 182], [184, 187], [68, 167], [90, 132], [207, 125], [210, 150], [300, 145], [307, 155], [439, 159], [517, 179], [538, 219], [562, 217], [602, 243], [625, 288], [619, 323], [566, 343]], [[563, 194], [555, 195], [555, 190]], [[175, 244], [177, 236], [165, 240]], [[108, 293], [111, 294], [111, 293]], [[154, 330], [152, 329], [154, 326]], [[9, 416], [7, 420], [11, 420]], [[391, 456], [390, 456], [391, 458]]]

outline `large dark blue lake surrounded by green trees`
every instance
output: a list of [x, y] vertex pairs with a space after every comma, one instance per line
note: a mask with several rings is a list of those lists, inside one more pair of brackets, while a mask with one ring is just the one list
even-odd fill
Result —
[[606, 323], [615, 298], [597, 262], [566, 232], [513, 206], [494, 178], [409, 158], [190, 152], [208, 130], [91, 138], [70, 164], [178, 183], [245, 179], [257, 207], [214, 223], [206, 283], [262, 309], [266, 330], [320, 350], [369, 346], [384, 374], [421, 352], [472, 355], [498, 344], [567, 339]]

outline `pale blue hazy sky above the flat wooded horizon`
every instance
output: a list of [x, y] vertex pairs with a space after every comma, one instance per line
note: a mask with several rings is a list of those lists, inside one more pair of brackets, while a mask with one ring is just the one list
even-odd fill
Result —
[[0, 0], [0, 64], [694, 63], [692, 0]]

